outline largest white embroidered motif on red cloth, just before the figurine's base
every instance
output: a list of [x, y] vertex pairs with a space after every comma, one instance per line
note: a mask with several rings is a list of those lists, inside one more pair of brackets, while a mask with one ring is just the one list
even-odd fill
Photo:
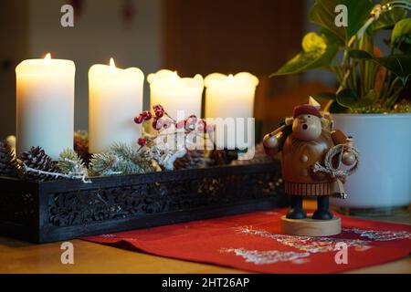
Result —
[[364, 251], [371, 248], [371, 246], [367, 245], [370, 241], [360, 239], [277, 235], [269, 233], [265, 230], [255, 230], [248, 227], [240, 227], [238, 228], [238, 232], [245, 235], [258, 235], [261, 237], [270, 238], [276, 240], [282, 245], [292, 246], [311, 254], [337, 251], [338, 249], [335, 248], [335, 244], [341, 242], [346, 244], [348, 247], [353, 246], [357, 251]]

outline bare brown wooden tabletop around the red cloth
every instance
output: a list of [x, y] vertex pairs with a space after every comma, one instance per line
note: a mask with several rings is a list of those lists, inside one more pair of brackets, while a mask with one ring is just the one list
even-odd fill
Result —
[[[369, 219], [411, 224], [409, 213]], [[70, 242], [74, 245], [74, 265], [62, 265], [61, 243], [33, 245], [0, 237], [0, 273], [245, 273], [233, 268], [146, 255], [79, 239]], [[411, 274], [411, 257], [350, 273]]]

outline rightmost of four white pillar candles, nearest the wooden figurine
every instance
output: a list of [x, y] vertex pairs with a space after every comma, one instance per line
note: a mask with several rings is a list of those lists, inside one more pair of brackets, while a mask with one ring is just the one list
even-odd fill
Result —
[[[247, 72], [235, 76], [213, 73], [205, 78], [205, 117], [233, 118], [236, 122], [238, 118], [244, 118], [246, 121], [242, 124], [244, 129], [239, 130], [236, 123], [236, 131], [225, 131], [227, 142], [217, 141], [217, 146], [224, 145], [225, 148], [232, 149], [238, 147], [236, 143], [238, 133], [244, 137], [243, 141], [250, 137], [249, 135], [254, 135], [254, 129], [252, 133], [247, 131], [247, 119], [254, 117], [254, 97], [257, 86], [258, 78]], [[223, 130], [225, 124], [228, 125], [224, 121], [216, 121], [217, 133]]]

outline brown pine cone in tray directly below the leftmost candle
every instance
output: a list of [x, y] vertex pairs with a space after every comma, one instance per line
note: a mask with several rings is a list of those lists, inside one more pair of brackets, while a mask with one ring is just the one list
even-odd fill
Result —
[[37, 173], [33, 171], [27, 171], [26, 167], [43, 171], [43, 172], [58, 172], [58, 164], [53, 163], [51, 157], [41, 147], [32, 147], [29, 151], [23, 152], [20, 155], [20, 160], [23, 164], [23, 170], [25, 171], [24, 177], [30, 181], [47, 182], [56, 180], [57, 177], [47, 175], [46, 173]]

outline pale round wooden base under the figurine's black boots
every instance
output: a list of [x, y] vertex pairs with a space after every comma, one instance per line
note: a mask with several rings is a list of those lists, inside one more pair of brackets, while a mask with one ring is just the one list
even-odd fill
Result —
[[341, 219], [334, 216], [331, 220], [288, 219], [281, 217], [281, 233], [299, 236], [330, 236], [341, 234]]

